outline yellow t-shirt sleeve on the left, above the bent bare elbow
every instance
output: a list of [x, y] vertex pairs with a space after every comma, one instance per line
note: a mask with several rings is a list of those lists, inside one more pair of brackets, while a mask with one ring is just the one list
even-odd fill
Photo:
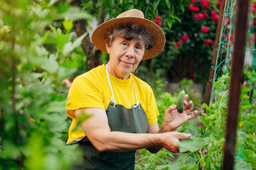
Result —
[[79, 108], [105, 109], [100, 86], [90, 74], [74, 79], [65, 108], [68, 109], [67, 115], [70, 118], [75, 118], [74, 111]]

